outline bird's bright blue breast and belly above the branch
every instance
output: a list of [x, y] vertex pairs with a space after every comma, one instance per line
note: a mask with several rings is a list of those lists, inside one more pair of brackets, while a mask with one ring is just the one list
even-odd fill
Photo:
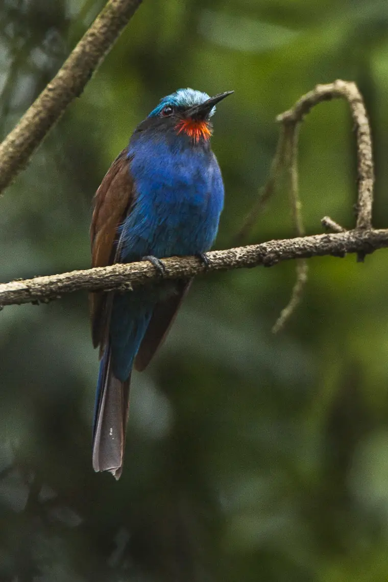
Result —
[[215, 155], [183, 136], [135, 133], [129, 144], [133, 207], [121, 227], [121, 260], [210, 249], [223, 207]]

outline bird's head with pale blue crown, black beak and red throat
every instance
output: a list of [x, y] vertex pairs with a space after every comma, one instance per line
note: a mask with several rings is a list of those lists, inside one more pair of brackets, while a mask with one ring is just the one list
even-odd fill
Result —
[[148, 115], [148, 122], [159, 127], [173, 128], [177, 134], [186, 134], [194, 143], [208, 141], [212, 134], [210, 118], [215, 113], [215, 105], [233, 91], [226, 91], [209, 97], [207, 93], [194, 89], [178, 89], [163, 97], [158, 107]]

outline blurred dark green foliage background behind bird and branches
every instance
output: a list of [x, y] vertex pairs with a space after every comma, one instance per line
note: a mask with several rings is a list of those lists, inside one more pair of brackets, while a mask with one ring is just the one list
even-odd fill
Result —
[[[15, 125], [102, 0], [1, 0], [0, 134]], [[388, 225], [385, 0], [144, 0], [27, 171], [0, 200], [1, 280], [90, 265], [91, 198], [134, 127], [179, 87], [234, 89], [214, 119], [233, 244], [268, 175], [277, 113], [316, 83], [358, 83]], [[343, 102], [300, 140], [308, 233], [354, 224]], [[280, 189], [246, 242], [293, 236]], [[294, 264], [198, 278], [135, 374], [123, 476], [95, 474], [98, 354], [85, 293], [0, 314], [0, 580], [386, 582], [388, 261], [309, 261], [279, 336]]]

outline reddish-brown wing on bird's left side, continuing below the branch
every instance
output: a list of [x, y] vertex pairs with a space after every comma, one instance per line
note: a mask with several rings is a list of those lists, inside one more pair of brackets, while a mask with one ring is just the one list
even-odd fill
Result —
[[[90, 225], [92, 267], [106, 267], [116, 261], [117, 229], [133, 200], [130, 160], [125, 149], [106, 172], [94, 196]], [[112, 293], [90, 293], [92, 340], [104, 349]]]

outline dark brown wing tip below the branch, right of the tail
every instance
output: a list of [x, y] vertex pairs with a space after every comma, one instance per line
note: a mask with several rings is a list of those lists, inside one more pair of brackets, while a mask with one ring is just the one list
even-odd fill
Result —
[[154, 353], [166, 338], [192, 282], [193, 279], [177, 281], [176, 293], [169, 299], [156, 304], [134, 361], [134, 367], [139, 372], [147, 367]]

